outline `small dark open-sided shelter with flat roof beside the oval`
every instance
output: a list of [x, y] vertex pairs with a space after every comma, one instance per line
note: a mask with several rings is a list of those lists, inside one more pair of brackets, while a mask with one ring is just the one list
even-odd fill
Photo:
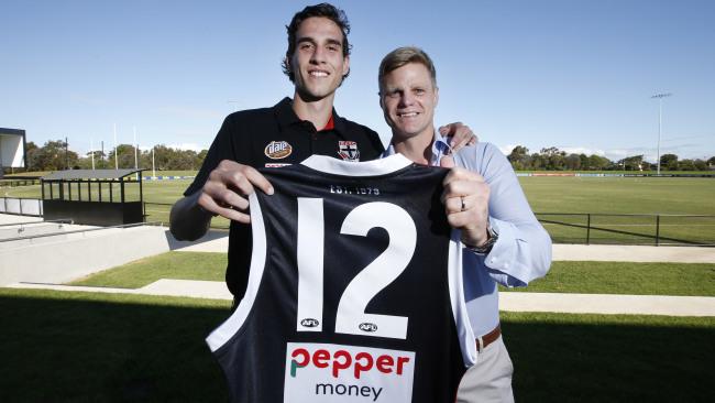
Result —
[[70, 170], [42, 178], [45, 220], [119, 226], [144, 221], [141, 170]]

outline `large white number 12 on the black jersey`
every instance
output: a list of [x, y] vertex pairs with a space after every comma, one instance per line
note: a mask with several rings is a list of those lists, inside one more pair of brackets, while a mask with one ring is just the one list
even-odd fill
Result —
[[[298, 331], [322, 331], [323, 224], [322, 198], [298, 198]], [[415, 253], [415, 221], [402, 207], [373, 202], [355, 207], [340, 233], [366, 237], [372, 228], [387, 231], [387, 249], [355, 275], [338, 303], [336, 333], [405, 339], [405, 316], [366, 314], [365, 307], [402, 274]]]

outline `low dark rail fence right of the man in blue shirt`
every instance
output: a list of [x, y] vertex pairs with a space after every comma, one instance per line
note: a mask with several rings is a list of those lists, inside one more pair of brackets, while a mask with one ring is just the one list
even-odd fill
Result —
[[557, 243], [715, 246], [715, 216], [537, 213]]

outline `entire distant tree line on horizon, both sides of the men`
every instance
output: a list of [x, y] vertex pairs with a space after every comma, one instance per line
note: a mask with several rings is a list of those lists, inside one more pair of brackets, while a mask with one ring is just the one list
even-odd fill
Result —
[[[66, 143], [62, 140], [47, 141], [44, 145], [37, 146], [28, 142], [26, 163], [28, 172], [32, 171], [62, 171], [65, 168], [90, 170], [92, 167], [91, 152], [86, 155], [78, 155], [67, 150]], [[191, 150], [179, 150], [164, 144], [154, 146], [154, 167], [157, 171], [197, 171], [207, 150], [200, 152]], [[107, 153], [95, 151], [96, 168], [113, 168], [114, 159], [119, 157], [120, 168], [134, 167], [134, 146], [131, 144], [119, 144], [117, 155], [114, 150]], [[556, 146], [541, 149], [540, 152], [529, 153], [524, 145], [515, 146], [507, 156], [516, 171], [654, 171], [656, 164], [644, 160], [644, 155], [631, 155], [623, 160], [610, 161], [605, 156], [596, 154], [566, 153]], [[152, 168], [152, 151], [138, 152], [139, 167]], [[715, 156], [710, 160], [680, 160], [675, 154], [663, 154], [660, 156], [661, 171], [708, 171], [715, 168]]]

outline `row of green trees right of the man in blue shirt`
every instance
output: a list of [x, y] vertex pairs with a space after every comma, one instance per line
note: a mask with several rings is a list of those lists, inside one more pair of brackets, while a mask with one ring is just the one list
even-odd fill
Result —
[[[529, 149], [517, 145], [507, 159], [516, 171], [656, 171], [657, 164], [644, 160], [644, 155], [631, 155], [610, 161], [596, 154], [566, 153], [556, 146], [529, 153]], [[661, 171], [710, 171], [715, 168], [715, 156], [705, 160], [679, 160], [675, 154], [660, 156]]]

